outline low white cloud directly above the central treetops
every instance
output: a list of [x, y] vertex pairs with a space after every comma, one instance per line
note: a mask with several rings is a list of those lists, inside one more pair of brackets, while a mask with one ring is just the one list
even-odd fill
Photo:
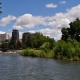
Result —
[[35, 30], [35, 31], [31, 30], [29, 32], [30, 33], [41, 32], [44, 36], [52, 37], [55, 40], [59, 40], [61, 37], [61, 31], [58, 29], [45, 28], [45, 29], [40, 29], [40, 30]]

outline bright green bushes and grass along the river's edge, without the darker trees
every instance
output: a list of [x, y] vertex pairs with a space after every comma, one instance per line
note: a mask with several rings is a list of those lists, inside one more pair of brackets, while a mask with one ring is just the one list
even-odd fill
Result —
[[59, 40], [55, 42], [55, 46], [50, 49], [50, 43], [44, 43], [40, 49], [27, 48], [21, 50], [23, 56], [57, 58], [62, 60], [79, 60], [80, 59], [80, 43], [69, 38], [66, 41]]

